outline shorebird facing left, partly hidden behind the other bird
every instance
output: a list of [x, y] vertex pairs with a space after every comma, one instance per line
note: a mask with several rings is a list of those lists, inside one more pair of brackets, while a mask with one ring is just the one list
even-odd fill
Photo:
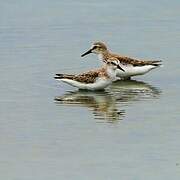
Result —
[[116, 75], [121, 79], [130, 79], [131, 76], [143, 75], [161, 65], [160, 60], [144, 61], [111, 53], [107, 46], [102, 42], [93, 43], [91, 48], [82, 54], [81, 57], [90, 53], [97, 54], [98, 58], [103, 62], [116, 59], [119, 62], [120, 67], [124, 69], [124, 71], [117, 70]]

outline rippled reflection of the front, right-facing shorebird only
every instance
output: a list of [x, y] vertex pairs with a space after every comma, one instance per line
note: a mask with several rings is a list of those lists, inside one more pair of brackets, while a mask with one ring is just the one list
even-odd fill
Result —
[[89, 108], [95, 119], [106, 119], [109, 122], [122, 119], [124, 110], [118, 111], [116, 99], [106, 91], [89, 92], [75, 91], [68, 92], [63, 96], [55, 98], [57, 104], [78, 105]]

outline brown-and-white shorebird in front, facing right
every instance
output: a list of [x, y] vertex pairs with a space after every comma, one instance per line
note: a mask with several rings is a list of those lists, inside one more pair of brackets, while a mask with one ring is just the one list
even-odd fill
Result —
[[56, 74], [57, 80], [85, 90], [102, 90], [116, 79], [116, 69], [124, 71], [117, 60], [107, 60], [102, 68], [79, 75]]

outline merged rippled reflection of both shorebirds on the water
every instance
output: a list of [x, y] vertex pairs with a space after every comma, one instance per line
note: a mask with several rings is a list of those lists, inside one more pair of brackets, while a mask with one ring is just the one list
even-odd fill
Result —
[[125, 108], [134, 101], [158, 98], [161, 91], [141, 81], [117, 81], [101, 92], [75, 91], [55, 98], [59, 105], [87, 107], [98, 122], [117, 122], [125, 116]]

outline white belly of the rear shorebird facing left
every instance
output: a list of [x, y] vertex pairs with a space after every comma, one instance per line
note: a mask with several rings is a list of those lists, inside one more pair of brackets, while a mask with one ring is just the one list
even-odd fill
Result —
[[120, 66], [124, 69], [124, 72], [117, 69], [116, 76], [118, 77], [130, 77], [130, 76], [137, 76], [143, 75], [152, 69], [155, 69], [156, 66], [153, 65], [145, 65], [145, 66], [132, 66], [132, 65], [122, 65]]

